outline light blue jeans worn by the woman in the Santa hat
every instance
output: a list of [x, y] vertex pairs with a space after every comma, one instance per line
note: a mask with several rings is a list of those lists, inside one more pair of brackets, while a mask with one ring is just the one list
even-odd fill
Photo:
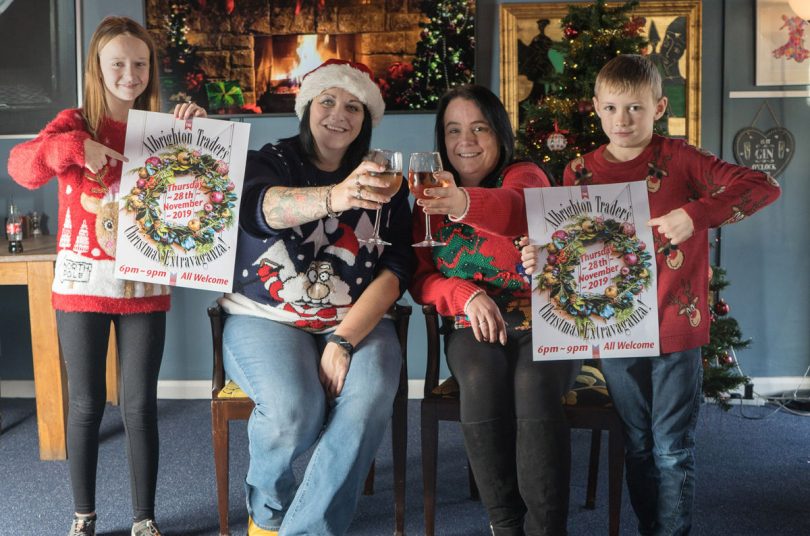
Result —
[[[251, 316], [225, 322], [225, 370], [256, 403], [248, 422], [248, 513], [284, 536], [346, 532], [399, 383], [400, 346], [394, 323], [383, 319], [356, 345], [340, 395], [327, 400], [318, 379], [325, 339]], [[293, 460], [313, 445], [296, 486]]]

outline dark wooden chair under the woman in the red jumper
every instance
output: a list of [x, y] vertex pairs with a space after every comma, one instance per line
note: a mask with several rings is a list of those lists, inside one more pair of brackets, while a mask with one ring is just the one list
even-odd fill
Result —
[[[425, 536], [433, 536], [436, 528], [436, 467], [439, 443], [439, 421], [460, 421], [458, 387], [454, 378], [439, 385], [441, 345], [439, 316], [432, 305], [422, 307], [427, 327], [427, 364], [425, 392], [422, 399], [422, 480], [424, 485]], [[602, 430], [608, 432], [608, 500], [609, 534], [618, 536], [624, 474], [624, 436], [622, 422], [612, 406], [566, 405], [565, 412], [571, 428], [592, 430], [588, 465], [588, 487], [585, 507], [596, 506], [596, 483], [599, 474], [599, 453]], [[469, 471], [469, 464], [467, 464]], [[472, 472], [469, 474], [470, 495], [477, 498]]]

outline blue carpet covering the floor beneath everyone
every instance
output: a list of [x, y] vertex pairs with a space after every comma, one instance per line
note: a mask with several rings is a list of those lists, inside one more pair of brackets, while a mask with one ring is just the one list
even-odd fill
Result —
[[[419, 449], [419, 402], [409, 405], [406, 533], [423, 534]], [[0, 536], [62, 536], [72, 501], [65, 462], [39, 461], [34, 401], [3, 399], [0, 435]], [[216, 535], [209, 403], [162, 400], [159, 405], [161, 466], [158, 522], [167, 535]], [[759, 420], [743, 418], [766, 417]], [[466, 457], [456, 423], [443, 423], [439, 444], [436, 533], [484, 536], [486, 515], [468, 498]], [[231, 530], [244, 534], [242, 480], [247, 468], [245, 423], [231, 427]], [[118, 408], [108, 406], [99, 453], [99, 534], [129, 534], [131, 506], [123, 429]], [[771, 408], [705, 405], [698, 425], [698, 486], [693, 534], [776, 536], [810, 534], [810, 420]], [[590, 433], [573, 433], [569, 529], [572, 536], [607, 534], [606, 441], [595, 510], [586, 510], [585, 483]], [[303, 469], [302, 461], [297, 471]], [[393, 533], [390, 434], [377, 458], [373, 496], [362, 497], [349, 534]], [[622, 534], [635, 534], [625, 490]]]

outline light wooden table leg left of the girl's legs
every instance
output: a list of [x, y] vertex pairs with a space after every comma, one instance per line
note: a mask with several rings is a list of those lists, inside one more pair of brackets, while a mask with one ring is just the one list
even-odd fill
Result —
[[67, 457], [67, 380], [59, 351], [56, 314], [51, 306], [52, 282], [53, 261], [28, 263], [28, 308], [37, 397], [39, 457], [42, 460], [64, 460]]

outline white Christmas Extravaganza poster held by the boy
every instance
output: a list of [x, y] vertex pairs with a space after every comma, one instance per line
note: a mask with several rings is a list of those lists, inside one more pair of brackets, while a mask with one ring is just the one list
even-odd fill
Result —
[[535, 361], [659, 355], [647, 184], [529, 188]]

